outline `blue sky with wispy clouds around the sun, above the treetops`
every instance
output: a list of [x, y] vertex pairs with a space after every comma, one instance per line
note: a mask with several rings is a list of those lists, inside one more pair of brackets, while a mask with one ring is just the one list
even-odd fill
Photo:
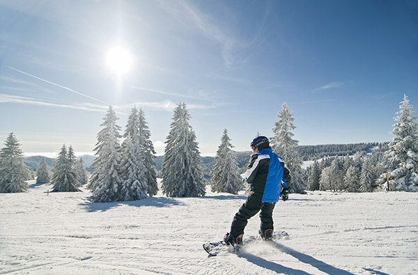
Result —
[[300, 145], [384, 142], [404, 93], [418, 108], [418, 1], [0, 0], [0, 140], [28, 154], [91, 152], [109, 104], [123, 129], [144, 110], [159, 155], [178, 102], [202, 155], [272, 136], [284, 102]]

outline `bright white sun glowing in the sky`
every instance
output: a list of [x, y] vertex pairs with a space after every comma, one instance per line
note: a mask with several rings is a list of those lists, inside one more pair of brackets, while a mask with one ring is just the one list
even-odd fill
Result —
[[110, 69], [118, 74], [119, 77], [132, 68], [132, 55], [130, 54], [130, 51], [122, 45], [109, 49], [106, 58], [107, 65], [109, 65]]

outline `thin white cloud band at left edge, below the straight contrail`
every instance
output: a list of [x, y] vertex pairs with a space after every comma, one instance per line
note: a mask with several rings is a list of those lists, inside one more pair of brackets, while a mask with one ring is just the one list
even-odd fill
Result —
[[38, 106], [47, 106], [47, 107], [59, 107], [65, 109], [78, 109], [84, 111], [100, 111], [103, 112], [107, 109], [104, 105], [95, 105], [89, 103], [78, 103], [78, 104], [57, 104], [53, 102], [45, 102], [42, 100], [37, 100], [32, 97], [22, 97], [19, 95], [7, 95], [0, 93], [0, 103], [18, 103], [18, 104], [31, 104]]

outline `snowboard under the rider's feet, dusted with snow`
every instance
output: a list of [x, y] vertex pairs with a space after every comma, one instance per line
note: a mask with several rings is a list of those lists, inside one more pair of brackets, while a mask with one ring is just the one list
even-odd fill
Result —
[[274, 242], [279, 239], [288, 239], [289, 235], [285, 231], [274, 232], [271, 239], [265, 240], [261, 236], [250, 236], [242, 240], [242, 244], [238, 246], [233, 246], [231, 244], [226, 244], [225, 241], [219, 242], [206, 242], [203, 244], [203, 249], [208, 252], [210, 256], [217, 256], [221, 252], [238, 252], [242, 246], [248, 245], [251, 242], [263, 241], [263, 242]]

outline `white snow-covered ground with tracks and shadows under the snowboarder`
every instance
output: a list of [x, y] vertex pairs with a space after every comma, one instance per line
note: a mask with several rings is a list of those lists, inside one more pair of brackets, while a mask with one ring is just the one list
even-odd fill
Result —
[[291, 239], [208, 257], [243, 193], [90, 203], [30, 184], [0, 194], [0, 274], [418, 274], [418, 193], [291, 194], [274, 210]]

